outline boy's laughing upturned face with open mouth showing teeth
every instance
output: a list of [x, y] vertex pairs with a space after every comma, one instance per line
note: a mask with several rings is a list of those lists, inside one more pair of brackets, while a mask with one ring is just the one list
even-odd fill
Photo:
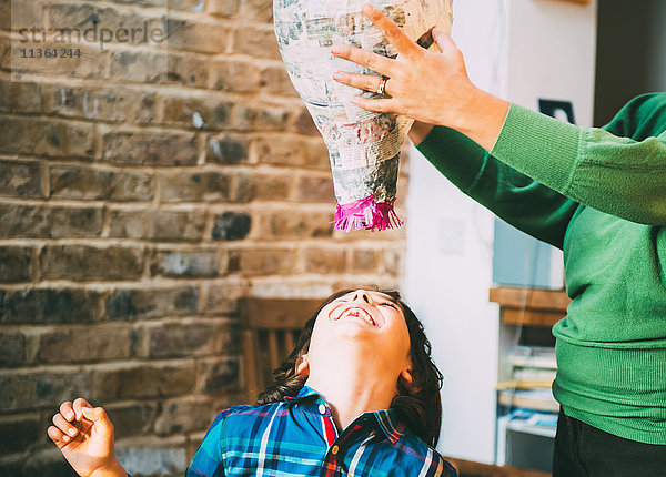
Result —
[[307, 361], [311, 372], [342, 353], [361, 352], [369, 366], [395, 378], [410, 365], [410, 332], [401, 306], [389, 295], [357, 290], [322, 308], [316, 317]]

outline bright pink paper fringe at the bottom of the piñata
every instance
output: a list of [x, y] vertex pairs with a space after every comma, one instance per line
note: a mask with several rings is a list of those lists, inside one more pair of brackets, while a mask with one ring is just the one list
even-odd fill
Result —
[[350, 202], [347, 204], [337, 204], [335, 207], [335, 230], [339, 231], [357, 231], [369, 229], [373, 232], [376, 230], [383, 231], [386, 229], [398, 227], [403, 224], [393, 210], [392, 201], [375, 202], [374, 195], [369, 195], [365, 199]]

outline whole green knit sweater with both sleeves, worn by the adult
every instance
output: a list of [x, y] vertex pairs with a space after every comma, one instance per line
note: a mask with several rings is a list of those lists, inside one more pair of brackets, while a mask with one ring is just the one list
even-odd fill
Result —
[[436, 126], [417, 149], [461, 191], [564, 251], [553, 328], [565, 414], [666, 445], [666, 93], [602, 129], [512, 104], [491, 153]]

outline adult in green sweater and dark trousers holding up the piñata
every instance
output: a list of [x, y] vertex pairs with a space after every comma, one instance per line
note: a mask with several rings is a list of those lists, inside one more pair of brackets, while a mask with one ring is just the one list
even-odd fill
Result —
[[[333, 54], [382, 77], [337, 72], [373, 111], [411, 115], [417, 149], [464, 193], [564, 250], [567, 317], [553, 329], [562, 405], [554, 475], [659, 475], [666, 468], [666, 94], [638, 97], [603, 129], [576, 128], [476, 89], [451, 39], [420, 49], [364, 13], [395, 60]], [[433, 126], [432, 124], [436, 124]]]

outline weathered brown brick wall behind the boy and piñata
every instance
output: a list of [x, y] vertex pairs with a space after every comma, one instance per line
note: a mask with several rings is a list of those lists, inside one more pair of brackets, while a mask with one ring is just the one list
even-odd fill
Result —
[[[0, 0], [2, 476], [70, 475], [46, 429], [77, 396], [108, 408], [135, 476], [182, 475], [243, 398], [239, 297], [398, 284], [404, 227], [332, 230], [270, 0], [165, 1]], [[92, 21], [169, 40], [17, 60], [50, 45], [20, 27]]]

